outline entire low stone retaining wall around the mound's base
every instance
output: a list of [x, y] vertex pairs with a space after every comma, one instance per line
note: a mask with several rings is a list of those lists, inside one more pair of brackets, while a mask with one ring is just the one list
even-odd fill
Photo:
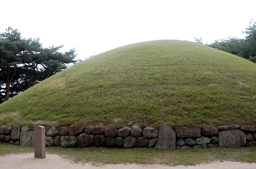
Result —
[[[34, 146], [33, 127], [0, 126], [0, 143]], [[61, 147], [155, 147], [156, 149], [189, 149], [256, 146], [255, 126], [196, 126], [158, 129], [138, 126], [51, 128], [46, 131], [46, 146]]]

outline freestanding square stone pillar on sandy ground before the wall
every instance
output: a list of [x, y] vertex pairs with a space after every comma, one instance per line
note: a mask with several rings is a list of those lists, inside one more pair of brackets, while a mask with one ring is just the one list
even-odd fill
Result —
[[35, 158], [46, 158], [45, 127], [34, 127], [34, 151]]

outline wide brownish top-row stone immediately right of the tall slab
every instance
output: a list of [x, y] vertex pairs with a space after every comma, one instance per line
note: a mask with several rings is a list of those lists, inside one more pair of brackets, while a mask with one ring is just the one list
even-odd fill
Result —
[[185, 137], [201, 137], [201, 129], [196, 126], [176, 127], [175, 132], [179, 138]]

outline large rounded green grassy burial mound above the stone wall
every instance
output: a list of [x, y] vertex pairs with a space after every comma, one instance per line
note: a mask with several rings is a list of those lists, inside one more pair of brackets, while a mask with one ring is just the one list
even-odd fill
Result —
[[256, 64], [187, 41], [126, 45], [0, 104], [0, 123], [255, 125]]

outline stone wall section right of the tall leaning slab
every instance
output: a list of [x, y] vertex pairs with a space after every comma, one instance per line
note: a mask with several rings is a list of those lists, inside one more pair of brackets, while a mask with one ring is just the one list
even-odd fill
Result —
[[177, 149], [256, 146], [254, 126], [177, 127]]

